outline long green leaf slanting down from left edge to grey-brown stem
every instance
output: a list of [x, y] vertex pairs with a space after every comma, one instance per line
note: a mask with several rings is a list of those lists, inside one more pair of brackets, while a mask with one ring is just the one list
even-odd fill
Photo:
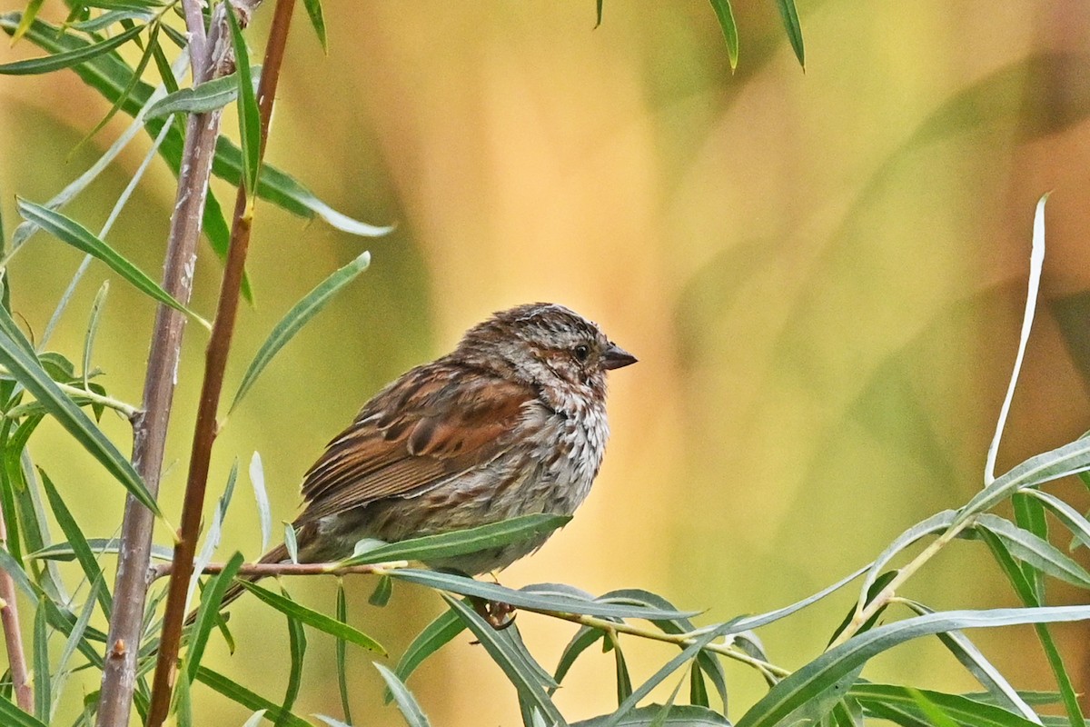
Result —
[[[0, 312], [0, 318], [5, 316], [5, 313]], [[161, 517], [155, 498], [152, 497], [144, 481], [129, 460], [118, 451], [118, 448], [102, 434], [102, 431], [95, 426], [95, 423], [57, 388], [57, 384], [46, 374], [38, 361], [33, 355], [28, 355], [4, 330], [0, 330], [0, 366], [11, 372], [60, 425], [68, 429], [69, 434], [90, 452], [133, 497], [157, 517]]]

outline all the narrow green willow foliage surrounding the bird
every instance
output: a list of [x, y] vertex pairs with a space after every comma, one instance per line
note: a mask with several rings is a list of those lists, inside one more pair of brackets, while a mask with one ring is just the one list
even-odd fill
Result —
[[[121, 251], [107, 242], [106, 231], [95, 234], [84, 225], [60, 211], [80, 196], [107, 168], [117, 155], [138, 134], [141, 129], [155, 140], [133, 184], [119, 196], [111, 222], [129, 199], [147, 165], [160, 160], [178, 173], [183, 163], [183, 124], [175, 114], [215, 113], [232, 104], [240, 120], [240, 145], [226, 138], [216, 144], [213, 169], [221, 179], [241, 184], [256, 196], [307, 218], [320, 217], [335, 228], [360, 235], [383, 234], [389, 228], [366, 225], [328, 207], [306, 187], [287, 173], [262, 162], [264, 143], [261, 117], [254, 89], [258, 66], [251, 63], [244, 28], [233, 10], [227, 10], [237, 72], [210, 80], [198, 86], [181, 88], [186, 77], [183, 60], [168, 58], [173, 45], [184, 45], [185, 38], [168, 22], [175, 10], [171, 2], [128, 0], [126, 2], [70, 2], [70, 17], [59, 26], [37, 17], [40, 0], [31, 0], [23, 13], [0, 17], [0, 27], [13, 40], [35, 44], [46, 56], [0, 64], [0, 74], [31, 75], [56, 71], [74, 72], [89, 88], [110, 105], [109, 111], [87, 137], [101, 130], [116, 113], [134, 120], [130, 131], [102, 154], [98, 162], [81, 174], [64, 191], [44, 204], [19, 202], [25, 221], [5, 246], [3, 260], [14, 255], [38, 230], [104, 262], [118, 277], [142, 292], [149, 305], [161, 303], [207, 325], [197, 314], [175, 300], [165, 288], [132, 264]], [[723, 32], [730, 66], [738, 63], [738, 28], [729, 0], [711, 0]], [[801, 25], [794, 0], [777, 0], [788, 43], [800, 64], [804, 64]], [[305, 0], [305, 10], [323, 48], [328, 38], [319, 0]], [[596, 3], [597, 22], [602, 22], [603, 2]], [[164, 43], [164, 41], [168, 43]], [[130, 64], [118, 52], [126, 44], [138, 45], [141, 53]], [[177, 56], [177, 53], [175, 53]], [[154, 63], [153, 63], [154, 61]], [[145, 77], [158, 74], [154, 85]], [[214, 250], [226, 256], [229, 228], [218, 202], [208, 195], [204, 211], [205, 233]], [[252, 214], [252, 209], [246, 213]], [[106, 228], [109, 228], [107, 223]], [[511, 684], [513, 698], [522, 711], [526, 727], [578, 725], [582, 727], [619, 727], [646, 725], [728, 725], [726, 718], [729, 694], [724, 661], [737, 662], [753, 669], [770, 686], [767, 693], [744, 708], [739, 727], [772, 727], [799, 722], [848, 727], [868, 719], [883, 719], [906, 727], [930, 723], [941, 726], [970, 725], [981, 727], [1022, 727], [1040, 724], [1034, 711], [1039, 700], [1015, 690], [977, 650], [964, 631], [978, 628], [1001, 628], [1033, 625], [1045, 658], [1055, 680], [1055, 695], [1066, 710], [1067, 724], [1081, 725], [1083, 715], [1077, 701], [1077, 687], [1065, 666], [1050, 623], [1090, 619], [1090, 606], [1050, 606], [1046, 583], [1059, 580], [1079, 590], [1090, 591], [1090, 572], [1077, 559], [1053, 544], [1047, 513], [1058, 523], [1061, 540], [1076, 546], [1090, 547], [1090, 522], [1078, 509], [1059, 495], [1041, 489], [1049, 483], [1090, 471], [1090, 439], [1081, 438], [1032, 457], [1009, 472], [994, 476], [995, 451], [1005, 424], [1010, 396], [1033, 317], [1037, 284], [1043, 258], [1043, 201], [1034, 225], [1030, 290], [1019, 354], [1000, 415], [993, 446], [985, 467], [985, 487], [959, 509], [945, 510], [908, 528], [896, 536], [875, 560], [819, 593], [784, 608], [756, 616], [739, 616], [722, 622], [698, 626], [697, 611], [676, 607], [665, 597], [643, 590], [625, 589], [593, 596], [574, 586], [546, 583], [509, 589], [477, 581], [457, 573], [435, 572], [410, 561], [445, 558], [531, 538], [562, 526], [567, 518], [537, 514], [516, 518], [471, 530], [419, 537], [399, 543], [364, 544], [356, 555], [340, 564], [331, 564], [328, 573], [339, 578], [351, 570], [377, 574], [372, 603], [387, 606], [392, 584], [416, 585], [436, 593], [446, 610], [426, 626], [400, 655], [393, 669], [376, 663], [388, 695], [412, 727], [428, 725], [425, 708], [412, 693], [408, 682], [419, 666], [463, 631], [469, 631]], [[0, 230], [2, 233], [2, 230]], [[368, 253], [359, 255], [348, 265], [334, 270], [307, 295], [288, 307], [288, 313], [269, 332], [266, 342], [253, 355], [242, 377], [231, 408], [255, 385], [269, 362], [287, 346], [299, 330], [326, 305], [331, 298], [367, 268]], [[53, 322], [68, 305], [71, 289], [83, 276], [81, 270], [70, 290], [57, 306]], [[5, 275], [5, 274], [4, 274]], [[243, 291], [247, 298], [249, 282]], [[52, 419], [88, 451], [125, 492], [136, 501], [159, 514], [158, 505], [132, 464], [125, 459], [98, 424], [106, 409], [135, 416], [134, 408], [109, 397], [107, 390], [92, 379], [94, 343], [101, 318], [106, 315], [104, 283], [88, 311], [88, 324], [82, 351], [82, 371], [77, 374], [65, 355], [40, 350], [15, 323], [4, 289], [0, 307], [0, 443], [3, 462], [0, 469], [0, 514], [8, 529], [8, 540], [0, 548], [0, 571], [10, 584], [19, 589], [24, 603], [33, 607], [24, 631], [28, 635], [29, 659], [33, 666], [34, 703], [20, 708], [10, 691], [0, 693], [0, 719], [17, 727], [40, 727], [49, 723], [63, 692], [65, 679], [76, 669], [104, 667], [106, 634], [90, 626], [96, 606], [107, 617], [114, 613], [111, 594], [100, 560], [117, 553], [117, 538], [88, 534], [85, 524], [68, 506], [65, 494], [70, 483], [55, 483], [45, 470], [35, 468], [27, 446], [40, 422]], [[52, 327], [47, 328], [48, 331]], [[84, 408], [89, 407], [94, 420]], [[265, 492], [261, 459], [252, 460], [251, 481], [254, 485], [262, 522], [265, 549], [271, 533], [271, 513]], [[223, 496], [208, 530], [205, 549], [198, 566], [209, 562], [218, 545], [223, 519], [231, 504], [237, 465], [228, 480]], [[44, 499], [40, 497], [44, 493]], [[1012, 506], [1013, 519], [993, 512]], [[63, 542], [52, 543], [46, 512], [51, 513]], [[293, 546], [294, 532], [289, 528], [286, 540]], [[899, 595], [909, 579], [929, 560], [955, 540], [968, 540], [986, 547], [1008, 578], [1014, 593], [1022, 602], [1020, 608], [934, 611]], [[910, 548], [927, 543], [922, 550], [908, 557]], [[295, 548], [290, 547], [293, 553]], [[159, 557], [169, 553], [156, 550]], [[70, 560], [78, 566], [80, 582], [75, 594], [69, 595], [65, 583], [52, 570], [56, 561]], [[905, 561], [894, 567], [895, 561]], [[329, 725], [351, 724], [350, 690], [347, 674], [350, 649], [360, 647], [386, 655], [385, 649], [363, 630], [349, 621], [347, 599], [338, 590], [336, 616], [330, 617], [293, 599], [286, 590], [280, 592], [239, 577], [243, 556], [233, 554], [220, 574], [203, 583], [196, 618], [187, 633], [185, 656], [181, 662], [178, 691], [173, 702], [181, 725], [193, 723], [194, 695], [205, 687], [253, 712], [247, 725], [267, 720], [275, 725], [299, 727], [308, 724], [295, 715], [296, 699], [304, 683], [307, 629], [331, 635], [337, 643], [336, 669], [344, 722], [320, 717]], [[75, 571], [75, 568], [72, 568]], [[198, 568], [201, 570], [201, 568]], [[245, 572], [245, 571], [242, 571]], [[196, 593], [199, 574], [190, 583], [190, 594]], [[831, 625], [829, 645], [803, 666], [790, 670], [779, 666], [765, 652], [756, 630], [809, 608], [831, 593], [840, 591], [859, 579], [856, 603], [839, 625]], [[290, 674], [279, 703], [252, 691], [229, 675], [218, 674], [202, 664], [216, 628], [230, 644], [219, 614], [220, 605], [233, 585], [240, 585], [263, 604], [286, 617], [289, 635], [288, 663]], [[401, 586], [399, 586], [401, 587]], [[894, 595], [898, 597], [894, 599]], [[460, 596], [460, 597], [459, 597]], [[138, 679], [150, 669], [158, 646], [158, 605], [161, 593], [152, 598], [145, 614], [144, 643], [110, 644], [110, 649], [134, 649], [138, 654]], [[82, 599], [82, 604], [81, 604]], [[119, 601], [119, 603], [121, 603]], [[76, 605], [80, 604], [80, 605]], [[522, 641], [519, 626], [497, 628], [492, 616], [494, 604], [506, 604], [544, 618], [562, 619], [572, 623], [573, 635], [562, 650], [553, 670], [546, 669]], [[910, 615], [901, 617], [895, 606], [905, 606]], [[885, 622], [883, 622], [885, 620]], [[50, 653], [50, 639], [60, 634], [64, 643], [56, 658]], [[862, 674], [875, 656], [921, 637], [938, 635], [944, 646], [976, 678], [984, 694], [948, 694], [905, 686], [875, 684]], [[670, 650], [661, 665], [650, 675], [633, 669], [626, 649], [634, 640], [658, 641]], [[554, 701], [554, 694], [569, 677], [572, 666], [591, 646], [602, 643], [611, 652], [613, 674], [618, 706], [605, 715], [569, 723]], [[791, 655], [792, 661], [796, 655]], [[73, 666], [75, 659], [82, 659]], [[682, 687], [688, 683], [688, 691]], [[673, 691], [664, 704], [647, 703], [655, 689]], [[146, 711], [147, 688], [137, 692], [137, 708]], [[689, 704], [677, 703], [688, 694]], [[98, 693], [85, 700], [89, 723], [97, 707]]]

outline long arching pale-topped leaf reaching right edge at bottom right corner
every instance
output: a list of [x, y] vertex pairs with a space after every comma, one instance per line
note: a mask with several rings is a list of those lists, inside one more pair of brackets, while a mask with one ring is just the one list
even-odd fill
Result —
[[738, 720], [737, 727], [772, 727], [780, 724], [782, 719], [808, 702], [824, 696], [843, 677], [861, 668], [871, 657], [911, 639], [956, 629], [1088, 619], [1090, 606], [1045, 606], [940, 611], [880, 626], [831, 649], [785, 677]]

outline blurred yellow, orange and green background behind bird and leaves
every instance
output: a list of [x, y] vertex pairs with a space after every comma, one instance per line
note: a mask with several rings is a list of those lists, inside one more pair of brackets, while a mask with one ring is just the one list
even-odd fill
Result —
[[[328, 54], [299, 9], [268, 160], [337, 209], [397, 229], [353, 239], [258, 207], [257, 302], [242, 313], [229, 391], [295, 300], [361, 250], [374, 257], [231, 416], [213, 495], [233, 460], [244, 473], [259, 451], [275, 517], [290, 520], [304, 470], [384, 383], [492, 311], [558, 301], [640, 363], [610, 378], [614, 436], [589, 501], [504, 582], [645, 587], [706, 609], [702, 622], [786, 605], [981, 486], [1017, 343], [1033, 205], [1047, 191], [1042, 307], [1000, 470], [1087, 428], [1083, 3], [801, 0], [803, 72], [774, 3], [736, 2], [735, 73], [702, 0], [606, 2], [597, 28], [591, 0], [324, 4]], [[250, 32], [255, 50], [267, 11]], [[22, 44], [0, 60], [35, 54]], [[5, 231], [14, 195], [49, 198], [119, 133], [116, 120], [73, 150], [107, 108], [71, 73], [0, 77]], [[225, 129], [234, 134], [233, 118]], [[146, 148], [134, 143], [68, 211], [97, 228]], [[172, 202], [172, 179], [156, 165], [110, 235], [153, 274]], [[29, 331], [40, 334], [80, 257], [38, 235], [15, 258], [14, 307]], [[218, 271], [205, 249], [197, 310], [213, 311]], [[51, 348], [78, 360], [90, 301], [110, 277], [93, 266]], [[144, 298], [112, 280], [95, 360], [129, 401], [140, 399], [152, 318]], [[180, 507], [205, 341], [191, 326], [167, 512]], [[107, 416], [106, 426], [126, 449], [125, 424]], [[65, 435], [44, 426], [32, 451], [90, 534], [116, 531], [121, 488]], [[225, 558], [258, 555], [244, 476], [240, 485]], [[935, 608], [1016, 604], [980, 544], [952, 549], [908, 595]], [[328, 579], [288, 585], [332, 609]], [[371, 580], [349, 586], [351, 620], [391, 661], [440, 610], [411, 587], [374, 608]], [[852, 597], [849, 589], [762, 632], [773, 661], [794, 667], [820, 653]], [[1073, 597], [1052, 591], [1055, 602]], [[283, 619], [242, 599], [231, 623], [238, 650], [217, 644], [211, 666], [278, 700]], [[519, 625], [546, 666], [573, 631], [532, 615]], [[1085, 691], [1086, 627], [1056, 632]], [[1030, 629], [973, 635], [1019, 687], [1052, 688]], [[298, 713], [339, 714], [332, 649], [312, 634]], [[629, 651], [637, 680], [673, 653]], [[402, 724], [382, 706], [376, 657], [349, 658], [358, 724]], [[901, 646], [864, 676], [977, 689], [937, 641]], [[743, 667], [728, 665], [728, 677], [737, 717], [763, 686]], [[518, 724], [512, 690], [468, 638], [410, 684], [433, 724]], [[70, 688], [73, 708], [78, 692]], [[205, 690], [196, 700], [198, 724], [246, 716]], [[611, 655], [584, 657], [558, 702], [571, 718], [609, 711]]]

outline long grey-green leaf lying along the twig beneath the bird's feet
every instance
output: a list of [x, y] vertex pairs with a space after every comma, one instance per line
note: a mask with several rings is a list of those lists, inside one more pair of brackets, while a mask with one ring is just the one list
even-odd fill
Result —
[[399, 568], [390, 571], [395, 580], [408, 581], [417, 585], [426, 585], [439, 591], [448, 591], [463, 596], [477, 596], [488, 601], [498, 601], [526, 610], [560, 611], [564, 614], [585, 614], [588, 616], [604, 616], [614, 618], [644, 618], [647, 620], [686, 618], [695, 616], [695, 611], [671, 611], [641, 606], [623, 606], [582, 601], [559, 594], [538, 594], [528, 591], [514, 591], [497, 583], [485, 583], [464, 575], [439, 573], [415, 568]]

